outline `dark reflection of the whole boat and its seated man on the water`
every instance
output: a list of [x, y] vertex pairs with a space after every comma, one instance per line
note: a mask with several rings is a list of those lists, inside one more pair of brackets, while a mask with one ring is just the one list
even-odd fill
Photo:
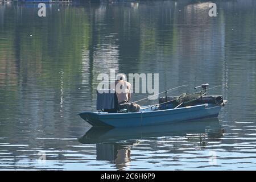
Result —
[[155, 140], [157, 143], [158, 140], [168, 140], [168, 137], [183, 137], [187, 142], [196, 144], [195, 150], [201, 150], [207, 142], [221, 140], [223, 133], [218, 118], [211, 118], [162, 126], [92, 127], [79, 138], [79, 142], [96, 144], [97, 160], [108, 160], [118, 169], [123, 169], [131, 162], [131, 148], [141, 141]]

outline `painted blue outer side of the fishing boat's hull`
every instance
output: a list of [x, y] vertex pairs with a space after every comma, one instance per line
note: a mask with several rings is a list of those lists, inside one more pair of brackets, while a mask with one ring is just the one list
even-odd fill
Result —
[[201, 118], [215, 118], [221, 105], [201, 104], [166, 110], [141, 109], [138, 113], [84, 112], [80, 117], [92, 126], [138, 127], [163, 125]]

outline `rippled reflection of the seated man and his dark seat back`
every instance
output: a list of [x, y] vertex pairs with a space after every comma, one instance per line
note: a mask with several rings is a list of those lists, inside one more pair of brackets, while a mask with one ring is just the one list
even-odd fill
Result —
[[97, 143], [97, 160], [108, 160], [115, 163], [119, 170], [123, 170], [131, 162], [131, 146], [133, 143]]

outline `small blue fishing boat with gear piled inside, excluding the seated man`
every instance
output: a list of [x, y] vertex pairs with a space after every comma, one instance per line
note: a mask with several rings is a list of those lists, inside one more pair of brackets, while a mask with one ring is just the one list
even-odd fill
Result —
[[204, 91], [197, 92], [196, 98], [195, 93], [187, 96], [182, 94], [179, 97], [163, 97], [165, 102], [160, 103], [160, 100], [163, 100], [160, 98], [158, 105], [142, 106], [139, 112], [135, 113], [97, 111], [79, 115], [92, 126], [104, 127], [154, 126], [193, 119], [216, 118], [225, 101], [222, 96], [206, 96], [208, 85], [205, 85], [202, 86]]

